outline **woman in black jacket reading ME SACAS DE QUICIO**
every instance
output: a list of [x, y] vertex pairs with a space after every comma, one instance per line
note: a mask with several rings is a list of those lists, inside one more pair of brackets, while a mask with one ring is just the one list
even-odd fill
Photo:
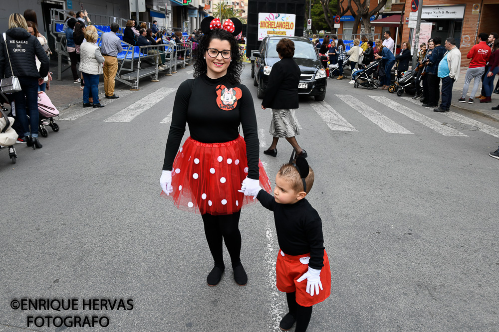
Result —
[[[13, 13], [8, 18], [9, 29], [2, 34], [0, 42], [0, 78], [4, 90], [4, 77], [12, 78], [20, 85], [13, 93], [15, 117], [24, 131], [24, 141], [28, 146], [40, 149], [38, 141], [38, 86], [43, 84], [47, 76], [49, 61], [38, 39], [29, 34], [26, 20], [19, 13]], [[20, 43], [10, 42], [21, 41]], [[8, 46], [7, 46], [8, 45]], [[40, 61], [40, 69], [36, 68], [34, 58]], [[14, 84], [15, 85], [15, 84]], [[26, 114], [29, 112], [29, 121]]]

